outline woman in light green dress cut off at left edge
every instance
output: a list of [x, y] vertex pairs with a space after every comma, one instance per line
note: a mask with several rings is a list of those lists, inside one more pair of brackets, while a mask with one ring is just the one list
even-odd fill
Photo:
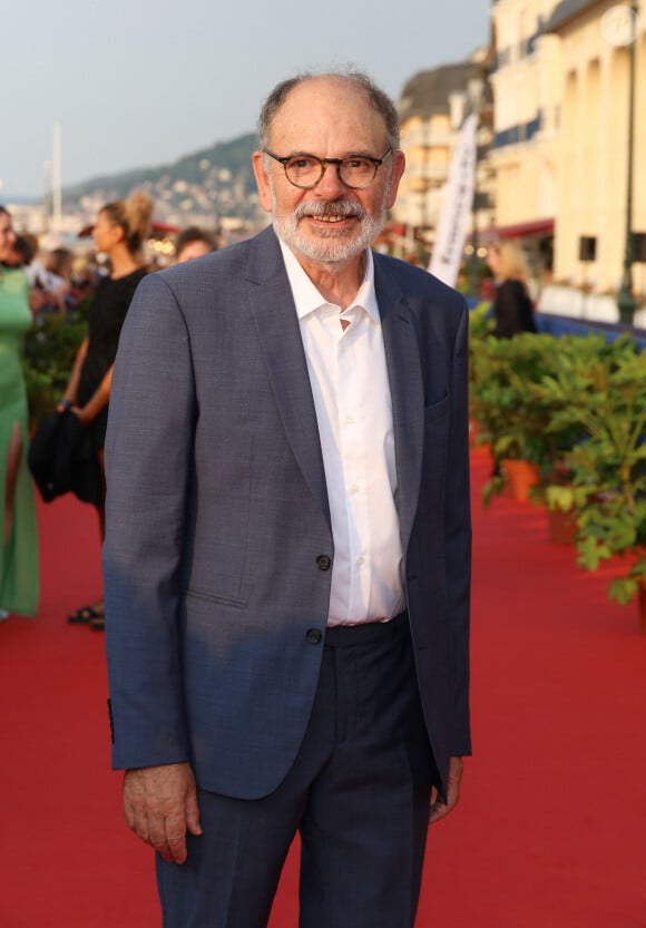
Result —
[[[0, 206], [0, 262], [16, 241]], [[38, 527], [27, 466], [27, 393], [21, 349], [31, 325], [22, 271], [0, 264], [0, 618], [35, 615], [38, 607]]]

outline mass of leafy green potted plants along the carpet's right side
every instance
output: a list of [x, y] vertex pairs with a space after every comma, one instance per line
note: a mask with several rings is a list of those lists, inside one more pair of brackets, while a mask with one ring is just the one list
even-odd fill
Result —
[[497, 461], [538, 465], [534, 499], [574, 512], [583, 567], [626, 558], [609, 595], [628, 602], [646, 580], [646, 353], [629, 335], [476, 339], [471, 411]]

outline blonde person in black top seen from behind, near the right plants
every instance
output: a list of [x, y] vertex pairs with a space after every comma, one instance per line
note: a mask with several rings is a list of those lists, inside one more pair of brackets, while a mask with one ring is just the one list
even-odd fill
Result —
[[493, 334], [498, 339], [510, 339], [519, 332], [536, 332], [529, 266], [520, 245], [511, 241], [491, 245], [487, 264], [496, 279]]

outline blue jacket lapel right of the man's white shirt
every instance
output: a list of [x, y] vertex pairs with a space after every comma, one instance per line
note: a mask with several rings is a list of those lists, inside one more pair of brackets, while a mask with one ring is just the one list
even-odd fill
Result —
[[379, 255], [374, 284], [392, 399], [400, 534], [405, 551], [413, 527], [424, 439], [424, 389], [420, 349], [410, 307], [397, 279]]

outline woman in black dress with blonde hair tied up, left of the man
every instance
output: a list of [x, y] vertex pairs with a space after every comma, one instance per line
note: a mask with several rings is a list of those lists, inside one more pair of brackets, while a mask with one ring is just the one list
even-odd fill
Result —
[[[105, 456], [108, 401], [112, 367], [121, 326], [130, 301], [146, 275], [143, 248], [148, 236], [153, 201], [143, 192], [104, 206], [97, 216], [94, 238], [98, 252], [109, 258], [109, 275], [96, 290], [89, 318], [88, 335], [81, 343], [58, 410], [71, 409], [87, 428], [104, 478], [104, 494], [98, 505], [99, 530], [105, 537]], [[70, 613], [68, 622], [104, 628], [102, 598]]]

